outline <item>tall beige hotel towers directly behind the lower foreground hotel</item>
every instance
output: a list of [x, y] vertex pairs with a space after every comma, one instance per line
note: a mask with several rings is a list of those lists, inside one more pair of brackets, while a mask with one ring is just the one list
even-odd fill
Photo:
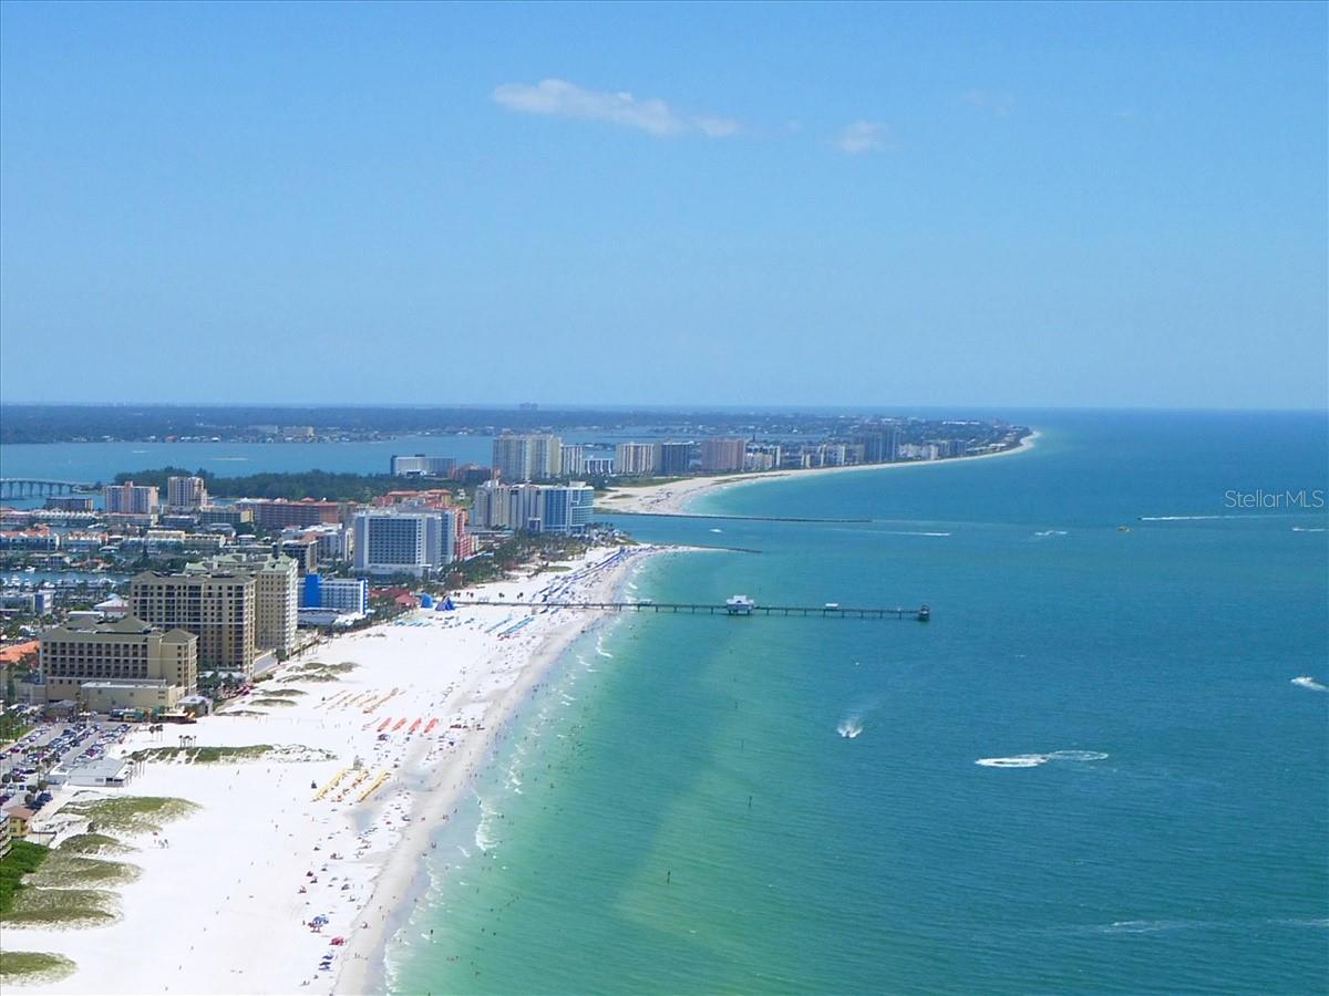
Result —
[[158, 574], [129, 583], [130, 611], [152, 625], [198, 636], [198, 664], [254, 677], [256, 583], [250, 571]]

